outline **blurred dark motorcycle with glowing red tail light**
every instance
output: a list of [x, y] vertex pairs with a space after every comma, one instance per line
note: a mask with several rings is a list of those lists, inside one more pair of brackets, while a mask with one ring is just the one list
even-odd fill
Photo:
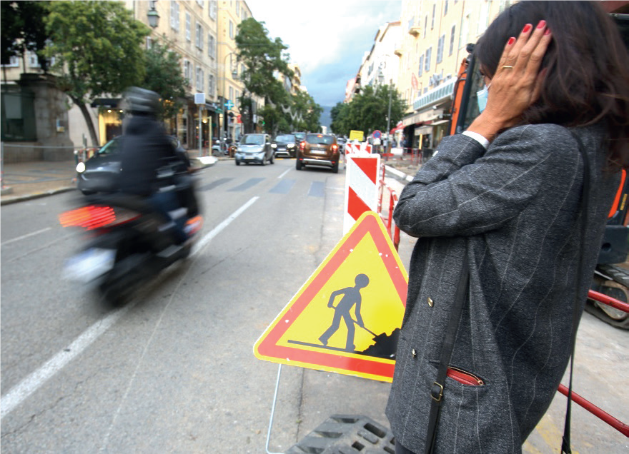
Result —
[[[59, 216], [64, 227], [81, 228], [88, 241], [66, 262], [64, 275], [96, 288], [109, 303], [122, 304], [162, 270], [189, 256], [203, 225], [194, 197], [192, 176], [167, 169], [182, 208], [175, 218], [184, 221], [187, 236], [176, 243], [172, 219], [154, 211], [147, 199], [124, 193], [95, 193], [78, 208]], [[173, 213], [171, 213], [173, 214]]]

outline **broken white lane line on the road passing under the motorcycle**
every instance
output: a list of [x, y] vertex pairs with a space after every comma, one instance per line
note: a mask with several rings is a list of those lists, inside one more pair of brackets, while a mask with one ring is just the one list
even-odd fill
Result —
[[[202, 248], [204, 248], [204, 246], [209, 243], [209, 241], [212, 241], [212, 238], [214, 238], [214, 236], [217, 236], [220, 231], [229, 226], [229, 224], [232, 223], [235, 218], [240, 216], [247, 208], [249, 208], [249, 206], [252, 206], [252, 204], [257, 201], [258, 198], [259, 197], [254, 197], [249, 200], [243, 206], [234, 211], [234, 213], [232, 213], [232, 215], [225, 219], [222, 223], [219, 223], [218, 226], [214, 227], [211, 232], [207, 233], [207, 235], [201, 238], [196, 247], [193, 249], [192, 254], [201, 251]], [[29, 235], [34, 235], [35, 233], [39, 232], [30, 233]], [[19, 238], [15, 238], [15, 240], [17, 239]], [[136, 304], [137, 302], [129, 303], [129, 305], [124, 306], [124, 308], [117, 309], [116, 311], [109, 313], [107, 317], [102, 318], [101, 320], [94, 323], [94, 325], [87, 328], [86, 331], [81, 334], [81, 336], [76, 338], [74, 342], [72, 342], [66, 348], [54, 355], [44, 365], [42, 365], [41, 368], [35, 370], [28, 377], [24, 378], [24, 380], [21, 380], [20, 383], [11, 388], [11, 390], [9, 390], [9, 393], [6, 393], [4, 396], [2, 396], [2, 398], [0, 398], [0, 420], [4, 419], [4, 417], [11, 413], [14, 408], [16, 408], [20, 403], [26, 400], [26, 398], [29, 398], [29, 396], [36, 390], [41, 388], [41, 386], [44, 385], [46, 381], [48, 381], [56, 373], [58, 373], [59, 370], [64, 368], [71, 360], [80, 355], [83, 350], [94, 343], [94, 340], [98, 339], [103, 333], [105, 333], [105, 331], [114, 326], [117, 321], [119, 321], [120, 318], [122, 318]], [[162, 318], [160, 317], [158, 325], [161, 321]]]

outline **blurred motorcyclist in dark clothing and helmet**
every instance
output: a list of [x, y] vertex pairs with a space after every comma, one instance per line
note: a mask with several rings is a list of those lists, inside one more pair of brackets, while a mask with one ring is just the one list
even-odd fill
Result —
[[157, 93], [132, 87], [124, 94], [124, 100], [127, 112], [132, 116], [122, 137], [119, 191], [147, 198], [152, 209], [169, 221], [175, 243], [183, 243], [187, 239], [184, 233], [186, 216], [178, 210], [182, 206], [177, 194], [167, 190], [172, 181], [160, 178], [159, 171], [173, 164], [189, 168], [189, 160], [177, 153], [164, 126], [157, 121]]

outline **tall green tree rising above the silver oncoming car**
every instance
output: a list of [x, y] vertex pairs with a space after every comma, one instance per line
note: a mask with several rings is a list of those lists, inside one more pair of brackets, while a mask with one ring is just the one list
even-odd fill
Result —
[[277, 131], [279, 118], [284, 115], [283, 109], [289, 107], [290, 100], [275, 74], [293, 76], [288, 67], [288, 55], [284, 52], [288, 47], [279, 38], [272, 41], [264, 22], [252, 17], [238, 24], [237, 31], [237, 57], [245, 66], [240, 76], [244, 92], [239, 99], [244, 131], [252, 132], [254, 128], [252, 96], [264, 99], [264, 107], [258, 110], [258, 114], [264, 116], [265, 130]]

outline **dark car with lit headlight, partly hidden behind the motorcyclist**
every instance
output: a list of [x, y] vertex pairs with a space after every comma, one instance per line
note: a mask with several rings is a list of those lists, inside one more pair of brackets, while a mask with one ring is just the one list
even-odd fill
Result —
[[[120, 172], [123, 137], [112, 138], [101, 146], [94, 156], [76, 166], [78, 173], [76, 186], [82, 193], [116, 191], [117, 178], [115, 176]], [[177, 153], [182, 155], [184, 161], [189, 162], [187, 152], [182, 148], [179, 139], [174, 136], [169, 136], [169, 138]]]

